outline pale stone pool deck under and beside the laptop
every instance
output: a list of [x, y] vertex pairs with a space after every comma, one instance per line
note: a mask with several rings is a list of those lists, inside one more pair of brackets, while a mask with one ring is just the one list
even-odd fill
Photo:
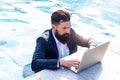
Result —
[[120, 80], [120, 36], [111, 40], [101, 63], [75, 74], [68, 69], [43, 70], [24, 80]]

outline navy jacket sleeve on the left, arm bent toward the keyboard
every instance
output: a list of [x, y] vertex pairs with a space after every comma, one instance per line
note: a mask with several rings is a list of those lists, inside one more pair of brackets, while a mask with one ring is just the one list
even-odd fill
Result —
[[42, 37], [36, 41], [36, 48], [33, 54], [31, 68], [34, 72], [43, 69], [56, 69], [58, 59], [46, 59], [47, 46], [46, 40]]

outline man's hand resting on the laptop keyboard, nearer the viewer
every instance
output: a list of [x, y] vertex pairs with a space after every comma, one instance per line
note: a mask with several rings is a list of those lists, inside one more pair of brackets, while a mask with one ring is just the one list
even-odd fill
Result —
[[80, 61], [77, 59], [60, 59], [59, 61], [60, 66], [62, 67], [75, 67], [76, 69], [79, 67]]

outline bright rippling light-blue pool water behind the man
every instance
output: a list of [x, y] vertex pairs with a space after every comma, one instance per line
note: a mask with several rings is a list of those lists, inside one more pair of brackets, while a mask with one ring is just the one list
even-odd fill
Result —
[[72, 27], [98, 44], [120, 34], [119, 0], [0, 0], [0, 80], [23, 80], [35, 40], [50, 26], [50, 15], [68, 10]]

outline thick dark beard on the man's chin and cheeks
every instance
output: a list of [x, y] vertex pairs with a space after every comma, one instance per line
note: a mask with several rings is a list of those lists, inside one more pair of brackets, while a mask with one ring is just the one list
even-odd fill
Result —
[[55, 37], [63, 44], [67, 43], [69, 41], [70, 38], [70, 34], [69, 33], [65, 33], [63, 35], [58, 34], [58, 31], [56, 30], [55, 32]]

